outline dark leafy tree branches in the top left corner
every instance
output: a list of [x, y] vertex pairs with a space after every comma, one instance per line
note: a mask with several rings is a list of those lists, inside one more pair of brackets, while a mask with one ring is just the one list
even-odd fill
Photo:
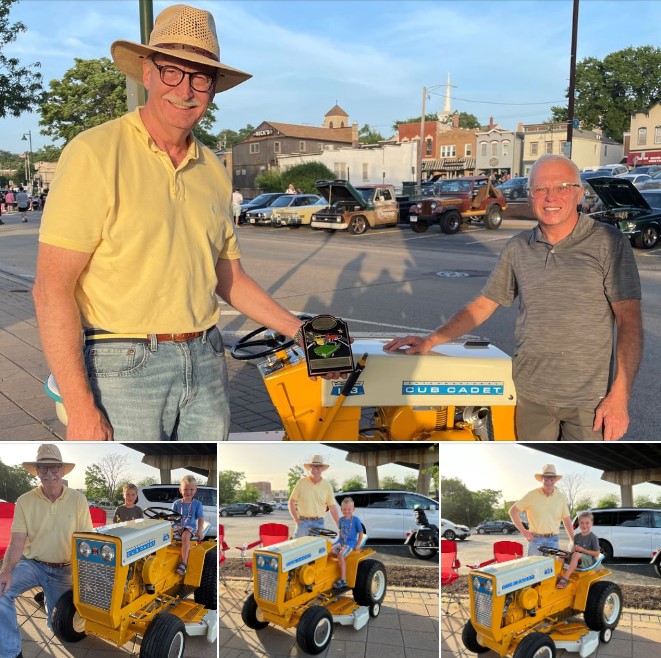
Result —
[[39, 102], [42, 76], [36, 71], [41, 64], [21, 66], [16, 57], [7, 57], [5, 46], [16, 41], [26, 31], [23, 23], [10, 23], [9, 12], [18, 0], [0, 0], [0, 117], [21, 116], [32, 112]]

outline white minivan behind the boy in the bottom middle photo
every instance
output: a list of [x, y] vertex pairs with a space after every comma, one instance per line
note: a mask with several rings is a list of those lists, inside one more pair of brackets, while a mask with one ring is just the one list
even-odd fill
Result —
[[438, 502], [419, 493], [394, 489], [340, 491], [335, 494], [337, 504], [347, 496], [353, 498], [355, 514], [372, 539], [406, 539], [406, 533], [416, 527], [416, 507], [427, 513], [430, 523], [439, 522]]

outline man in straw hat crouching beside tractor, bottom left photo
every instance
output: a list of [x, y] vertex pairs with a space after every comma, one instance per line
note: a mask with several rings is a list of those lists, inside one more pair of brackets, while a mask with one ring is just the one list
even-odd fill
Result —
[[14, 509], [11, 541], [0, 569], [0, 658], [22, 655], [16, 597], [41, 587], [50, 627], [53, 606], [71, 590], [71, 536], [92, 529], [85, 496], [62, 481], [74, 466], [62, 461], [58, 447], [48, 443], [39, 446], [35, 461], [23, 462], [41, 485], [20, 496]]

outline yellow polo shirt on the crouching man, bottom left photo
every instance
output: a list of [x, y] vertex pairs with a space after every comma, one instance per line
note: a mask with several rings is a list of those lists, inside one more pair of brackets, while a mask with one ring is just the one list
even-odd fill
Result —
[[42, 562], [69, 562], [74, 532], [92, 529], [85, 496], [66, 486], [53, 503], [41, 486], [19, 497], [14, 509], [12, 532], [28, 535], [23, 555]]

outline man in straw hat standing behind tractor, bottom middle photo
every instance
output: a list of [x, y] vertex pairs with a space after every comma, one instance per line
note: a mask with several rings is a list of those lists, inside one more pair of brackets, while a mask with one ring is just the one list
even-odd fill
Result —
[[289, 496], [289, 513], [296, 522], [295, 537], [307, 537], [310, 528], [323, 528], [326, 510], [336, 525], [340, 521], [333, 485], [321, 475], [330, 464], [326, 464], [321, 455], [314, 455], [303, 466], [309, 475], [296, 483]]

